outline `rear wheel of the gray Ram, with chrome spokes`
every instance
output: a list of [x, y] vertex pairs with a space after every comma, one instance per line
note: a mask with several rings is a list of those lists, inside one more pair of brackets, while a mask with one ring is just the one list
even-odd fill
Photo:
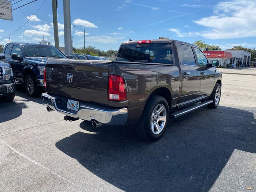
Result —
[[160, 139], [168, 124], [169, 106], [162, 96], [151, 96], [136, 128], [138, 136], [144, 140]]

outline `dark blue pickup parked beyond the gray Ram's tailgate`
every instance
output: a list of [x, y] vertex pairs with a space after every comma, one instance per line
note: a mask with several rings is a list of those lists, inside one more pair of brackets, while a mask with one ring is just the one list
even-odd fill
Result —
[[29, 96], [39, 96], [44, 89], [44, 65], [48, 58], [66, 56], [56, 47], [32, 43], [8, 43], [4, 47], [5, 62], [12, 66], [17, 84], [24, 84]]

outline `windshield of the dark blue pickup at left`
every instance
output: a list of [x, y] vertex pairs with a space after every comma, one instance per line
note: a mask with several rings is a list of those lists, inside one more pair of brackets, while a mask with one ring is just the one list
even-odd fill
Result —
[[64, 54], [54, 46], [46, 45], [22, 45], [26, 57], [60, 57]]

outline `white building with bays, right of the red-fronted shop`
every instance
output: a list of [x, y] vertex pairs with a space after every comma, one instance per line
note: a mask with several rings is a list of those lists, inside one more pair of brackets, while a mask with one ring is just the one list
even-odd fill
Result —
[[249, 67], [252, 54], [244, 50], [228, 50], [233, 56], [231, 62], [236, 64], [236, 67]]

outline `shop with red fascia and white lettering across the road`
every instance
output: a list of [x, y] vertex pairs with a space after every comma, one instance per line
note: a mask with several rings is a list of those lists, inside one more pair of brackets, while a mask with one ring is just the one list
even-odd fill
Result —
[[210, 62], [218, 60], [220, 61], [220, 65], [225, 67], [227, 64], [230, 64], [233, 58], [232, 54], [228, 51], [204, 51], [204, 54]]

